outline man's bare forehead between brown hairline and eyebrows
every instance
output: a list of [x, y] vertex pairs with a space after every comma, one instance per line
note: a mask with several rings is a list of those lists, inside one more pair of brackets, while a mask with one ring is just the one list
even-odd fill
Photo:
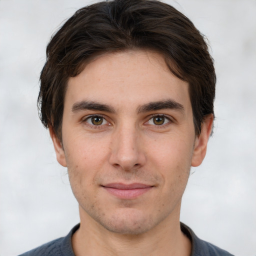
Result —
[[169, 71], [161, 54], [130, 50], [97, 56], [70, 77], [64, 107], [81, 100], [138, 106], [166, 98], [189, 107], [187, 82]]

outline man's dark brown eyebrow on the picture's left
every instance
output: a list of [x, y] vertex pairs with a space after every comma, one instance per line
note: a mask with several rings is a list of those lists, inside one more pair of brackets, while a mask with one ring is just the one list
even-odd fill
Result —
[[115, 113], [113, 107], [106, 104], [97, 103], [94, 101], [81, 100], [72, 105], [72, 112], [79, 112], [82, 110], [98, 110], [108, 113]]

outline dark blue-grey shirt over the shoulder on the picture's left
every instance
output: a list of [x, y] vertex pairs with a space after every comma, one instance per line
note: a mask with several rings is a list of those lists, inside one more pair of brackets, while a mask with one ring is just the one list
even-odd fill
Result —
[[74, 256], [71, 239], [78, 228], [79, 224], [75, 225], [66, 236], [44, 243], [19, 256]]

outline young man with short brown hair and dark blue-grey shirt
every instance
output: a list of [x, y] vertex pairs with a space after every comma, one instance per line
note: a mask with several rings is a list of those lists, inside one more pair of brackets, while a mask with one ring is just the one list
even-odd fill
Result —
[[40, 117], [80, 224], [22, 255], [230, 255], [179, 222], [214, 118], [213, 61], [192, 22], [159, 1], [99, 2], [46, 53]]

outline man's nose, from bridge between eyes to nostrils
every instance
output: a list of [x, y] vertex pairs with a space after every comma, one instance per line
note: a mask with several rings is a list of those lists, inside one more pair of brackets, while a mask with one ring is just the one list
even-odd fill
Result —
[[109, 162], [116, 168], [134, 171], [146, 160], [138, 129], [132, 125], [120, 125], [113, 132]]

